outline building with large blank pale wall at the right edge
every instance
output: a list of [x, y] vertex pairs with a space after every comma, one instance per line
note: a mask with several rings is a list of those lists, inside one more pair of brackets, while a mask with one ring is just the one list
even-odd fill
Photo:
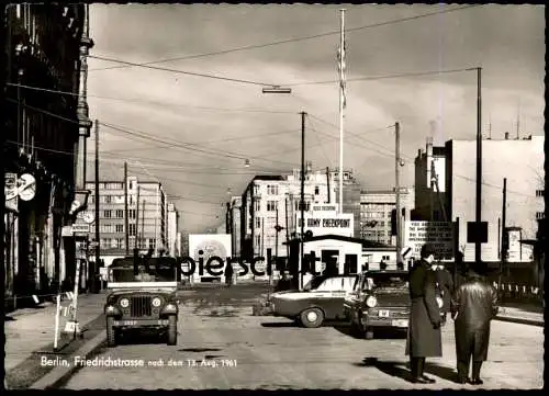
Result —
[[[504, 139], [482, 140], [481, 220], [488, 223], [488, 242], [481, 245], [483, 261], [500, 260], [502, 234], [507, 234], [507, 228], [519, 229], [520, 240], [536, 236], [537, 220], [545, 217], [544, 139], [544, 136], [509, 139], [507, 133]], [[445, 214], [451, 222], [459, 218], [458, 246], [466, 261], [474, 260], [474, 244], [467, 242], [467, 224], [475, 220], [475, 140], [448, 140], [444, 147], [432, 147], [432, 140], [427, 140], [426, 151], [419, 150], [415, 162], [418, 219], [440, 220]], [[429, 162], [434, 167], [427, 167]], [[435, 174], [430, 173], [433, 168]], [[430, 188], [435, 177], [440, 194], [436, 185]], [[504, 179], [506, 220], [502, 229]], [[427, 208], [422, 207], [424, 202], [429, 202]], [[517, 256], [519, 261], [529, 261], [531, 249], [523, 246]]]

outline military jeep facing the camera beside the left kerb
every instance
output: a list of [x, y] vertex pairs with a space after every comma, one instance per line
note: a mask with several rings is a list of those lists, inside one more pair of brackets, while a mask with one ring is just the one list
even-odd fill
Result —
[[131, 329], [157, 330], [169, 346], [177, 343], [177, 279], [173, 258], [115, 259], [109, 268], [104, 313], [107, 341], [115, 347], [119, 336]]

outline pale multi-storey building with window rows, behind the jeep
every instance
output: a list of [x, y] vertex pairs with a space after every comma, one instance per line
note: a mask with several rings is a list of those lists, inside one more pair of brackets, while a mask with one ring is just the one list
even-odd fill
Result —
[[[96, 183], [88, 182], [91, 204], [96, 200]], [[127, 178], [127, 235], [125, 238], [124, 181], [99, 182], [99, 235], [101, 259], [105, 264], [116, 257], [132, 253], [134, 248], [142, 251], [154, 250], [154, 256], [169, 253], [167, 240], [167, 204], [163, 185], [158, 182], [142, 182], [135, 177]], [[93, 205], [88, 211], [93, 212]], [[173, 207], [175, 208], [175, 207]], [[176, 212], [177, 213], [177, 212]], [[96, 222], [90, 228], [90, 240], [96, 239]]]

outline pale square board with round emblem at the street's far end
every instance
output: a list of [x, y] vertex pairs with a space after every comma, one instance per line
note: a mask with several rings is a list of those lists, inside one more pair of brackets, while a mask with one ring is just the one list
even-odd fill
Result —
[[[208, 262], [211, 257], [217, 256], [223, 260], [227, 257], [232, 257], [231, 251], [231, 234], [190, 234], [189, 235], [189, 257], [195, 262], [203, 259], [203, 262]], [[226, 261], [225, 261], [226, 264]], [[188, 271], [184, 268], [186, 263], [182, 264], [183, 271]], [[199, 271], [193, 273], [193, 280], [200, 279]], [[204, 273], [203, 276], [208, 276]]]

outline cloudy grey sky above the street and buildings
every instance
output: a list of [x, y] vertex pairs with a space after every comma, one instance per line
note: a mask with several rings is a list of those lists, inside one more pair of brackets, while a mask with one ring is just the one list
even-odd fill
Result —
[[[223, 224], [255, 174], [300, 167], [302, 111], [305, 160], [338, 167], [341, 8], [344, 168], [363, 189], [394, 185], [395, 122], [405, 186], [428, 136], [475, 138], [467, 69], [482, 67], [484, 137], [515, 136], [517, 124], [520, 136], [544, 134], [541, 5], [90, 4], [100, 178], [122, 180], [126, 161], [130, 176], [163, 183], [181, 229], [201, 233]], [[262, 93], [273, 84], [292, 93]]]

